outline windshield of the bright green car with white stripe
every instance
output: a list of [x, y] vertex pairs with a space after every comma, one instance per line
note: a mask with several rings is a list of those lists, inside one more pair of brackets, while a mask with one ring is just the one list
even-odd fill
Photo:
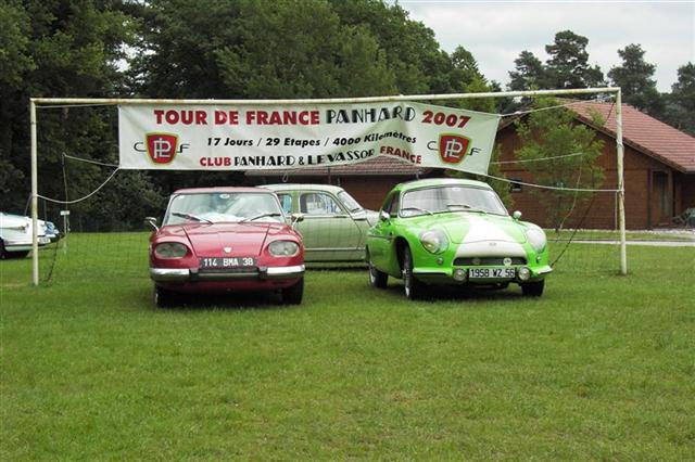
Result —
[[466, 185], [434, 187], [408, 191], [403, 195], [400, 210], [403, 218], [445, 211], [482, 211], [508, 215], [494, 191]]

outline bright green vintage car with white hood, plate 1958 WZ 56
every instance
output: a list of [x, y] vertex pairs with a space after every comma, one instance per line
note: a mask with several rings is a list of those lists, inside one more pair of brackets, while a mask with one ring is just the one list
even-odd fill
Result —
[[430, 285], [505, 288], [541, 296], [552, 271], [545, 233], [510, 217], [480, 181], [429, 179], [397, 184], [367, 233], [369, 281], [383, 288], [403, 279], [405, 295], [421, 298]]

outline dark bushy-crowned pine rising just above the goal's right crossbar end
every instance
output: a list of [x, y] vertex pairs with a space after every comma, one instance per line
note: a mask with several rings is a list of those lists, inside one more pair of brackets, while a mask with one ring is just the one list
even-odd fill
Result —
[[571, 30], [555, 34], [555, 42], [545, 46], [548, 88], [591, 88], [604, 85], [601, 68], [589, 65], [589, 39]]

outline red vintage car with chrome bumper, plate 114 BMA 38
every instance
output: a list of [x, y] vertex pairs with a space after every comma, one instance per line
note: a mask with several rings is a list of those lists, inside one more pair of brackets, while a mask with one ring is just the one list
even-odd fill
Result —
[[161, 228], [147, 218], [155, 228], [155, 305], [170, 306], [179, 293], [237, 291], [279, 291], [283, 303], [300, 304], [304, 247], [287, 220], [277, 195], [262, 188], [176, 191]]

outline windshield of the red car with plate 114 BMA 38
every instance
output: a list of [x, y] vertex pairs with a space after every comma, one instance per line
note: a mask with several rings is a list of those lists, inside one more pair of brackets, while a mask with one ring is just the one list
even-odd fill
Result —
[[285, 215], [275, 194], [215, 192], [174, 195], [163, 224], [283, 220]]

